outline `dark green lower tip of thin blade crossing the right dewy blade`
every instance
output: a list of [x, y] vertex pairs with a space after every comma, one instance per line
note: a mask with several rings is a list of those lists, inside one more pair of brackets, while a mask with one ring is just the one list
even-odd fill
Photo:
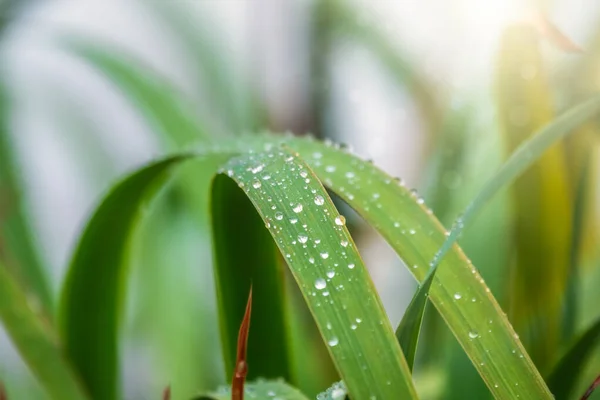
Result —
[[427, 298], [429, 297], [429, 289], [433, 283], [434, 276], [435, 270], [430, 271], [423, 283], [417, 289], [417, 292], [402, 316], [400, 324], [396, 328], [396, 338], [398, 339], [398, 343], [400, 343], [400, 347], [402, 347], [406, 362], [411, 371], [415, 363], [421, 323], [423, 322]]

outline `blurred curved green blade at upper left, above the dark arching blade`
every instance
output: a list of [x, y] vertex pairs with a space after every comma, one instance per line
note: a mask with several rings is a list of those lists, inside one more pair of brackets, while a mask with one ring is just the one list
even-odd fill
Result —
[[206, 127], [182, 94], [151, 69], [126, 54], [83, 40], [66, 40], [69, 52], [110, 78], [172, 147], [208, 141]]

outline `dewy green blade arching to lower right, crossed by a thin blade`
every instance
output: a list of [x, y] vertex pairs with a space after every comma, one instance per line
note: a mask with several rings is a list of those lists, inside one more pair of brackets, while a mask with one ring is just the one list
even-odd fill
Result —
[[[445, 234], [422, 201], [393, 178], [350, 154], [315, 142], [289, 143], [325, 185], [376, 228], [423, 281]], [[475, 267], [457, 246], [449, 250], [434, 278], [430, 299], [490, 391], [500, 399], [551, 398]]]

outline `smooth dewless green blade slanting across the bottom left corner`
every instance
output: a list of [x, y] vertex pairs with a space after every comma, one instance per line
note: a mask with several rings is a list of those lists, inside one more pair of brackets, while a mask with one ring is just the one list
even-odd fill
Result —
[[1, 264], [0, 320], [48, 395], [65, 400], [88, 398], [67, 363], [49, 321], [31, 309], [28, 295]]

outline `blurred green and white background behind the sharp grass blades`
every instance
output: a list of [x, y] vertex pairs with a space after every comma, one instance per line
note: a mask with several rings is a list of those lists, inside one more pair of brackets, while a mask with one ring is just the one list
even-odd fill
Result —
[[[594, 0], [3, 0], [0, 17], [0, 184], [13, 185], [2, 187], [0, 215], [22, 213], [53, 298], [101, 196], [161, 154], [205, 146], [196, 131], [214, 142], [268, 129], [346, 143], [416, 188], [450, 227], [522, 140], [600, 87]], [[169, 113], [189, 125], [156, 118]], [[598, 126], [582, 130], [461, 239], [540, 369], [553, 362], [535, 346], [540, 335], [562, 349], [600, 314]], [[16, 204], [2, 196], [9, 190]], [[138, 235], [122, 329], [126, 399], [157, 399], [168, 384], [189, 398], [224, 383], [206, 204], [188, 204], [166, 191]], [[532, 217], [539, 209], [546, 214]], [[374, 230], [349, 221], [395, 326], [414, 279]], [[0, 256], [10, 261], [10, 248]], [[540, 274], [558, 286], [539, 289], [539, 302], [560, 309], [556, 326], [543, 326], [561, 332], [530, 322], [536, 301], [523, 307]], [[299, 379], [315, 395], [337, 377], [295, 304]], [[599, 366], [596, 353], [581, 388]], [[487, 396], [433, 308], [415, 379], [426, 399]], [[11, 400], [44, 398], [1, 329], [0, 381]]]

